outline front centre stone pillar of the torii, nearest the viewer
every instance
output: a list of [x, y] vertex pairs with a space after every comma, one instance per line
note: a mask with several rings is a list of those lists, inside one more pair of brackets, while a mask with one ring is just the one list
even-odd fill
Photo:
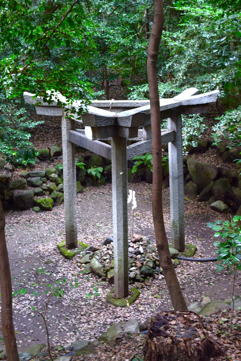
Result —
[[128, 296], [128, 217], [126, 138], [111, 138], [115, 296]]

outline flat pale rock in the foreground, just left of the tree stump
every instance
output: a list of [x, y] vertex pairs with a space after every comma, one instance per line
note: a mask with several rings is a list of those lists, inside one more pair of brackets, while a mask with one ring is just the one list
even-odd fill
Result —
[[138, 334], [139, 326], [137, 319], [133, 318], [127, 322], [118, 322], [111, 325], [104, 334], [100, 335], [98, 340], [103, 342], [115, 342], [115, 340], [121, 335], [129, 334]]

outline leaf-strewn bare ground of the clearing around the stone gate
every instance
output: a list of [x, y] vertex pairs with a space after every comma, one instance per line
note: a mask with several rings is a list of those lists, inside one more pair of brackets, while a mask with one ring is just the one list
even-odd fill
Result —
[[[151, 186], [147, 183], [129, 184], [136, 191], [137, 208], [134, 213], [134, 232], [146, 235], [155, 241], [151, 215]], [[164, 220], [170, 236], [169, 189], [163, 191]], [[78, 239], [87, 244], [101, 244], [106, 236], [112, 235], [112, 193], [111, 184], [90, 187], [77, 195]], [[131, 209], [129, 209], [129, 215]], [[210, 209], [206, 203], [185, 199], [186, 243], [197, 245], [196, 257], [214, 257], [213, 231], [206, 222], [229, 214]], [[130, 219], [129, 219], [130, 221]], [[130, 224], [130, 223], [129, 223]], [[61, 299], [53, 297], [48, 307], [47, 320], [53, 345], [69, 345], [77, 339], [94, 340], [112, 323], [137, 318], [139, 322], [157, 313], [171, 309], [165, 281], [159, 279], [146, 282], [141, 295], [128, 308], [115, 308], [105, 302], [111, 285], [100, 282], [90, 274], [79, 273], [76, 257], [66, 260], [56, 245], [64, 239], [64, 206], [52, 212], [34, 213], [32, 210], [6, 213], [6, 238], [8, 242], [14, 292], [29, 289], [25, 295], [14, 298], [14, 322], [18, 334], [20, 351], [32, 344], [46, 343], [41, 317], [33, 312], [44, 308], [47, 284], [67, 278], [77, 288], [65, 286]], [[231, 292], [231, 275], [216, 273], [215, 262], [198, 264], [182, 261], [176, 268], [178, 279], [188, 304], [201, 301], [204, 296], [211, 299], [225, 299]], [[88, 297], [98, 289], [99, 296]], [[240, 294], [240, 280], [236, 282], [235, 294]], [[31, 294], [38, 291], [39, 295]], [[155, 295], [161, 296], [155, 298]], [[1, 344], [0, 344], [1, 347]]]

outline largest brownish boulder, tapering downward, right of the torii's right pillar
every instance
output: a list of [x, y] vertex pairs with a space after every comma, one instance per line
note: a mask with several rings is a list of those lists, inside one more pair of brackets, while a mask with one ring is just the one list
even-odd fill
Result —
[[213, 164], [203, 163], [188, 158], [187, 165], [191, 178], [197, 185], [199, 191], [202, 191], [203, 188], [218, 177], [218, 167]]

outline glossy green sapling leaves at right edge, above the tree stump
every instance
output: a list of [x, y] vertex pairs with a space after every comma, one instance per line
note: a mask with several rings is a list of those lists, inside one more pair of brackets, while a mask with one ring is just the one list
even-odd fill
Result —
[[[221, 271], [224, 267], [229, 270], [230, 266], [236, 266], [241, 270], [241, 216], [234, 216], [231, 221], [216, 221], [214, 223], [207, 223], [207, 227], [216, 231], [214, 237], [224, 239], [224, 241], [214, 242], [216, 253], [218, 253], [218, 261], [220, 265], [217, 266], [217, 271]], [[232, 273], [233, 271], [231, 271]]]

